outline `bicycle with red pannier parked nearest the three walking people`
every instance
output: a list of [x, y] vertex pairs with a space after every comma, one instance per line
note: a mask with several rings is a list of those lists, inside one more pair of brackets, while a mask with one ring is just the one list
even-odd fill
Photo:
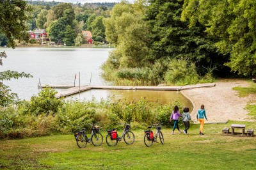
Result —
[[144, 130], [144, 143], [146, 146], [150, 147], [152, 146], [153, 142], [157, 142], [157, 135], [159, 134], [159, 139], [161, 141], [162, 144], [164, 144], [164, 136], [161, 132], [162, 129], [162, 125], [163, 123], [157, 123], [157, 124], [153, 124], [148, 128], [152, 128], [153, 126], [156, 126], [156, 135], [154, 136], [152, 130]]

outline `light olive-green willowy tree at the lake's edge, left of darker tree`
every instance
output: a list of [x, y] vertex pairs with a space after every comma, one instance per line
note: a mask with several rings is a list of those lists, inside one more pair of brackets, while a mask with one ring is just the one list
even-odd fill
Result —
[[108, 59], [113, 68], [136, 68], [148, 65], [150, 33], [144, 20], [143, 4], [116, 4], [109, 19], [104, 20], [106, 39], [116, 45]]

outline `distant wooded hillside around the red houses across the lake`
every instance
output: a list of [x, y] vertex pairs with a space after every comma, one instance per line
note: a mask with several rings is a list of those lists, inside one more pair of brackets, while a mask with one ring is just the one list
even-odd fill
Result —
[[[80, 46], [84, 42], [82, 30], [91, 31], [95, 42], [104, 42], [103, 19], [110, 17], [115, 3], [60, 3], [24, 1], [31, 11], [26, 15], [24, 31], [46, 29], [49, 40], [67, 46]], [[23, 35], [25, 36], [25, 35]], [[27, 35], [28, 36], [28, 35]], [[8, 38], [0, 33], [0, 45], [7, 45]]]

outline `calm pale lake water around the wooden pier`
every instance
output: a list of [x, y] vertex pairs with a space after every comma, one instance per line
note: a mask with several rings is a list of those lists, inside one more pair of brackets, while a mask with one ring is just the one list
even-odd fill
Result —
[[[100, 66], [108, 59], [108, 54], [113, 49], [99, 48], [2, 48], [6, 51], [7, 58], [3, 59], [0, 72], [15, 70], [17, 72], [31, 73], [33, 78], [12, 79], [4, 81], [10, 86], [19, 98], [29, 100], [32, 95], [38, 93], [38, 82], [41, 84], [74, 84], [76, 73], [76, 85], [79, 84], [79, 72], [81, 75], [81, 86], [90, 84], [92, 74], [92, 85], [111, 85], [100, 77]], [[58, 89], [60, 91], [61, 89]], [[91, 100], [92, 97], [99, 100], [115, 95], [117, 98], [128, 98], [138, 100], [145, 97], [150, 101], [163, 104], [180, 100], [184, 105], [191, 107], [191, 102], [177, 91], [134, 91], [134, 90], [100, 90], [93, 89], [85, 91], [71, 98], [80, 100]]]

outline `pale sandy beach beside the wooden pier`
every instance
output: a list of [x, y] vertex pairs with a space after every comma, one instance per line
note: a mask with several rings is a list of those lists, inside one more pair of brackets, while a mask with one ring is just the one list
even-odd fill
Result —
[[212, 88], [195, 88], [181, 91], [194, 105], [191, 118], [196, 123], [196, 112], [200, 105], [205, 105], [208, 121], [205, 123], [223, 123], [228, 120], [253, 121], [245, 109], [248, 102], [255, 100], [255, 96], [239, 97], [232, 88], [249, 86], [243, 80], [223, 79], [215, 83]]

